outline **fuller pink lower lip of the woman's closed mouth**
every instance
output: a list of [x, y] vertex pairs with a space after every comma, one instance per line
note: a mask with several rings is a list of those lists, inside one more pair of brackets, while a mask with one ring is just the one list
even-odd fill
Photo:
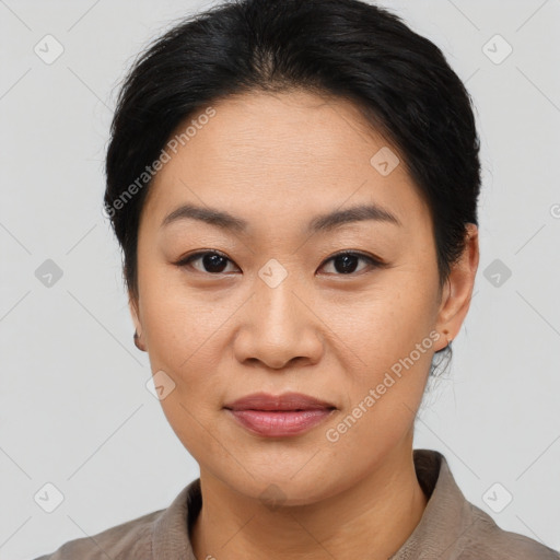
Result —
[[244, 428], [266, 438], [298, 435], [323, 422], [335, 409], [313, 410], [231, 410]]

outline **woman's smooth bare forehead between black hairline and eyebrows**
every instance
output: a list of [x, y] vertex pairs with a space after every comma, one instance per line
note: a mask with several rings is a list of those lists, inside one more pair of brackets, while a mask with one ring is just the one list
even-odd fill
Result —
[[425, 219], [397, 150], [350, 102], [250, 93], [211, 108], [212, 118], [197, 120], [205, 107], [172, 135], [180, 139], [190, 126], [150, 186], [144, 210], [154, 223], [189, 201], [247, 220], [306, 221], [311, 212], [363, 202]]

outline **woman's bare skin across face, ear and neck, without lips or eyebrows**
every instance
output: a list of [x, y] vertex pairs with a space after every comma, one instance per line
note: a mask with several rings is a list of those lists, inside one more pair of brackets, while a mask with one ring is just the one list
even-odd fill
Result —
[[[386, 559], [425, 508], [413, 422], [433, 353], [457, 336], [469, 307], [477, 229], [468, 226], [464, 255], [440, 292], [429, 208], [405, 165], [387, 176], [372, 166], [381, 148], [398, 152], [353, 105], [292, 91], [212, 106], [215, 116], [150, 187], [139, 230], [139, 299], [130, 299], [152, 372], [175, 383], [161, 401], [164, 413], [200, 466], [195, 555]], [[249, 228], [225, 232], [195, 220], [160, 228], [185, 202], [225, 210]], [[382, 206], [401, 225], [366, 220], [304, 233], [314, 217], [360, 202]], [[175, 264], [203, 250], [226, 256], [221, 272], [208, 271], [202, 258]], [[345, 250], [386, 266], [360, 259], [345, 273], [343, 262], [330, 259]], [[275, 288], [259, 276], [270, 259], [288, 273]], [[427, 338], [431, 348], [329, 441], [327, 430]], [[298, 436], [261, 438], [223, 409], [261, 390], [304, 393], [337, 410]]]

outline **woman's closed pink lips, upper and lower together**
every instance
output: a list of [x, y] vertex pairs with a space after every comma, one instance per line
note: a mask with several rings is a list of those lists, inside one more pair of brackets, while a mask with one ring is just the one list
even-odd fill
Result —
[[255, 393], [225, 405], [246, 430], [265, 438], [293, 436], [326, 420], [336, 407], [301, 393]]

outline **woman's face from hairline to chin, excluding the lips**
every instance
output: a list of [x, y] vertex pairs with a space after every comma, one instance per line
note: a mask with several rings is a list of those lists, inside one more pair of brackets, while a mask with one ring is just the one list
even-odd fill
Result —
[[[247, 497], [276, 485], [287, 504], [312, 503], [410, 460], [433, 353], [466, 308], [450, 322], [429, 209], [352, 105], [300, 92], [212, 107], [150, 187], [132, 316], [201, 475]], [[245, 226], [164, 224], [184, 205]], [[320, 220], [359, 206], [395, 220], [365, 210]], [[177, 265], [200, 253], [211, 255]], [[224, 408], [257, 392], [336, 409], [301, 433], [266, 436]]]

